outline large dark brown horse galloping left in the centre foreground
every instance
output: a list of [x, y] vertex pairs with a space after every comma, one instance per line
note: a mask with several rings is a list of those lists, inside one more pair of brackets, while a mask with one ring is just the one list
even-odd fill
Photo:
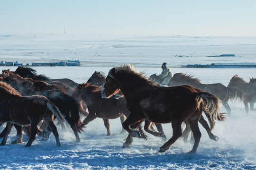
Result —
[[[144, 119], [156, 123], [172, 123], [173, 136], [158, 152], [165, 152], [182, 136], [182, 123], [188, 120], [195, 139], [189, 153], [196, 153], [201, 138], [198, 121], [203, 108], [208, 110], [206, 114], [210, 117], [211, 130], [215, 120], [224, 120], [224, 115], [219, 113], [220, 100], [213, 94], [197, 92], [190, 85], [155, 85], [130, 64], [110, 69], [101, 96], [110, 98], [119, 91], [124, 94], [127, 109], [130, 111], [128, 118], [123, 122], [124, 129], [129, 133], [128, 138], [145, 137], [145, 134], [131, 128], [137, 127]], [[150, 124], [145, 126], [149, 127]]]

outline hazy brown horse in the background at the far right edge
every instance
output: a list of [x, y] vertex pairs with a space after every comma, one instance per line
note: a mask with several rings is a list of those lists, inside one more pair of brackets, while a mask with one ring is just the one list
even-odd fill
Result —
[[255, 110], [253, 108], [254, 103], [256, 102], [256, 84], [247, 83], [243, 78], [235, 75], [229, 81], [228, 87], [236, 87], [244, 91], [246, 100], [244, 100], [245, 110], [248, 114], [248, 102], [250, 103], [250, 109]]

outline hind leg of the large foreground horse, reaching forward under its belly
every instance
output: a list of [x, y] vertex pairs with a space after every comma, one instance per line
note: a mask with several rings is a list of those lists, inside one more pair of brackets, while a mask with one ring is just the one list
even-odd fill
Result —
[[180, 137], [182, 136], [182, 128], [181, 128], [182, 122], [180, 120], [173, 120], [172, 121], [172, 127], [173, 127], [173, 136], [171, 139], [169, 139], [163, 146], [160, 147], [158, 152], [165, 152], [167, 151], [172, 144]]

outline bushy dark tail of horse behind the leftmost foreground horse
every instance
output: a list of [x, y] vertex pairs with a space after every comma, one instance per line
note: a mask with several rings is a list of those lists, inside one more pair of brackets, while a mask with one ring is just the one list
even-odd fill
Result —
[[68, 114], [65, 119], [70, 124], [73, 130], [81, 133], [83, 131], [82, 128], [84, 127], [84, 125], [80, 120], [79, 104], [77, 102], [71, 103], [71, 105], [69, 106], [69, 111], [70, 114]]

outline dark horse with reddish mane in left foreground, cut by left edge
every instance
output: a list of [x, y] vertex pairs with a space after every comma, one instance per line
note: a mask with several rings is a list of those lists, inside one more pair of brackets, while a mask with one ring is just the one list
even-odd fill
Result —
[[[21, 126], [31, 126], [31, 134], [25, 147], [31, 146], [38, 131], [38, 123], [43, 119], [50, 127], [56, 139], [56, 146], [60, 147], [59, 134], [54, 124], [54, 115], [61, 122], [64, 118], [54, 103], [50, 102], [45, 96], [32, 95], [21, 96], [10, 85], [0, 82], [0, 96], [5, 98], [0, 103], [0, 123], [7, 123], [7, 132], [0, 145], [5, 145], [7, 137], [13, 124], [18, 125], [17, 140], [22, 143]], [[15, 143], [15, 142], [14, 142]]]

